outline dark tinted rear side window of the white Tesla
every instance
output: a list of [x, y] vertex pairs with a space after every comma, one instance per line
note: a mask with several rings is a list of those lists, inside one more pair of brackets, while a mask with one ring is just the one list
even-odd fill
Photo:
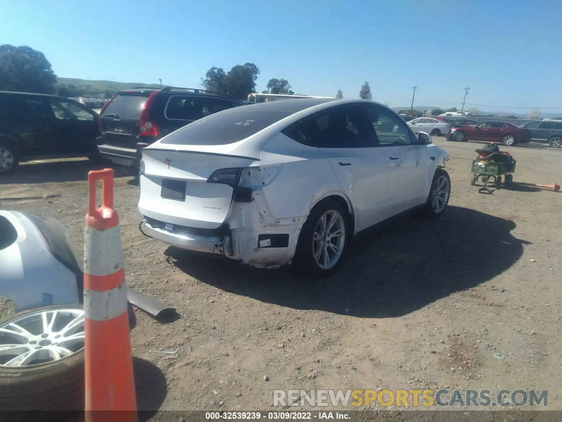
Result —
[[336, 107], [304, 118], [283, 133], [304, 145], [319, 148], [377, 146], [359, 106]]

